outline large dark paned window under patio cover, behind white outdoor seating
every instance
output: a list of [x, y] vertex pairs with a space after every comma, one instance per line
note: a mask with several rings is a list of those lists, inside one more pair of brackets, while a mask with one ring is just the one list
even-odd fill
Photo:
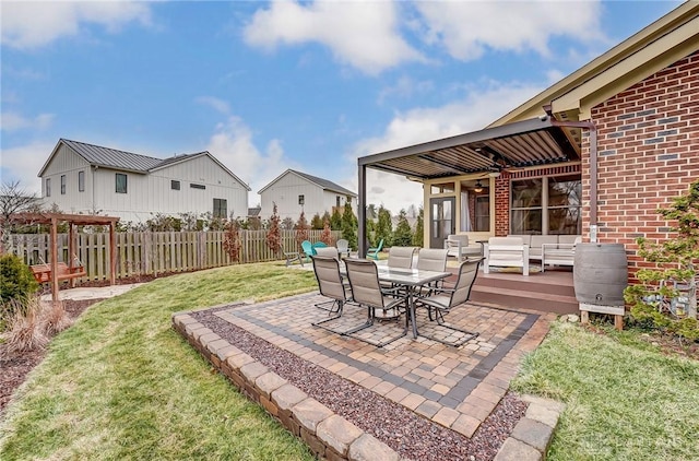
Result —
[[512, 181], [511, 234], [581, 234], [581, 194], [579, 175]]

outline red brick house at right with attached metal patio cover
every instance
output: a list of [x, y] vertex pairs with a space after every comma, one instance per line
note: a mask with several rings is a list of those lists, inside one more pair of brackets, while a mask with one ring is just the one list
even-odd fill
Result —
[[366, 168], [425, 185], [431, 247], [450, 233], [580, 234], [625, 244], [632, 277], [636, 238], [667, 238], [656, 209], [699, 178], [699, 2], [486, 129], [359, 158], [359, 190]]

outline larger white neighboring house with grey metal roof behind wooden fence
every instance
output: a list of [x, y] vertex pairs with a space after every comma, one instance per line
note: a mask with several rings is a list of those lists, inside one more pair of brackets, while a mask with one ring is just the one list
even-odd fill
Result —
[[61, 139], [38, 176], [66, 213], [144, 222], [156, 213], [245, 217], [250, 188], [209, 152], [154, 158]]

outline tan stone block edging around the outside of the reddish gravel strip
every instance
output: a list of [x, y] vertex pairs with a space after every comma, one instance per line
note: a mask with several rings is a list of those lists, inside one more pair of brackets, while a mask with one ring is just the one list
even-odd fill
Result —
[[[400, 460], [388, 445], [308, 397], [189, 312], [173, 314], [173, 328], [245, 395], [300, 437], [317, 457], [331, 461]], [[495, 461], [536, 461], [545, 457], [562, 404], [535, 397], [522, 399], [530, 403], [526, 414], [502, 444]]]

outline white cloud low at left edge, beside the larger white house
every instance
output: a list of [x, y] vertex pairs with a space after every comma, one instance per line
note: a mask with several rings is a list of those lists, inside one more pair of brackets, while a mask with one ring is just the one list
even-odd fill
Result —
[[49, 154], [56, 146], [55, 142], [35, 141], [27, 145], [2, 149], [2, 182], [20, 181], [20, 186], [28, 193], [42, 196], [42, 180], [36, 176]]

